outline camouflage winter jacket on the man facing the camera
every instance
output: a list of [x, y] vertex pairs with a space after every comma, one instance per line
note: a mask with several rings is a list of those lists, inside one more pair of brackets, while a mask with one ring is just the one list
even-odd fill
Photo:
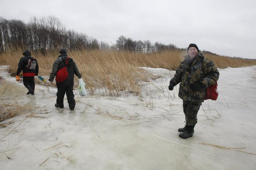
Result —
[[[203, 102], [205, 90], [207, 87], [217, 83], [219, 72], [214, 63], [204, 57], [201, 51], [198, 52], [196, 59], [191, 66], [188, 64], [189, 56], [185, 56], [176, 74], [171, 79], [170, 84], [177, 85], [180, 83], [179, 97], [184, 101]], [[193, 92], [190, 85], [195, 82], [202, 82], [204, 88]]]

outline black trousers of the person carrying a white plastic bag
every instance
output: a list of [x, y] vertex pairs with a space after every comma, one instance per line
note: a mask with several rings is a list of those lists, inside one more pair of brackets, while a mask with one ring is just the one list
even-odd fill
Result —
[[68, 105], [69, 108], [74, 108], [76, 105], [76, 101], [74, 100], [74, 94], [73, 94], [73, 86], [57, 86], [58, 92], [57, 92], [57, 100], [56, 103], [61, 108], [64, 107], [63, 100], [64, 95], [66, 93], [66, 96], [68, 98]]

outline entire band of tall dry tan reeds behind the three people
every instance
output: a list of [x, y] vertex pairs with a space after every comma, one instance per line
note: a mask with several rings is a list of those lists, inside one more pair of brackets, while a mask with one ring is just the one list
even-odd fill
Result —
[[[0, 54], [0, 64], [9, 65], [9, 72], [15, 75], [23, 50], [8, 50]], [[68, 56], [72, 57], [79, 67], [87, 89], [93, 93], [96, 89], [102, 88], [111, 96], [120, 95], [122, 90], [140, 95], [141, 82], [154, 77], [150, 72], [138, 67], [175, 70], [186, 54], [186, 51], [182, 50], [150, 54], [118, 52], [115, 50], [87, 51], [84, 49], [68, 51]], [[52, 64], [59, 53], [58, 50], [47, 51], [44, 56], [41, 53], [32, 52], [32, 56], [38, 60], [39, 75], [49, 76]], [[256, 65], [255, 60], [223, 57], [211, 53], [206, 53], [205, 57], [212, 60], [218, 68]]]

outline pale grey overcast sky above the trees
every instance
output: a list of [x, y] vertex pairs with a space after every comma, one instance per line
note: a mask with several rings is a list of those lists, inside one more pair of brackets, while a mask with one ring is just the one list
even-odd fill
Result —
[[56, 16], [110, 45], [120, 35], [226, 56], [256, 58], [255, 0], [0, 0], [0, 16]]

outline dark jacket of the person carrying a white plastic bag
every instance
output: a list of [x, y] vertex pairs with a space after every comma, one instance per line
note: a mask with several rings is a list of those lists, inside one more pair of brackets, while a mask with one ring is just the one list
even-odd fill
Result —
[[[53, 81], [54, 77], [56, 76], [58, 70], [62, 69], [67, 61], [67, 55], [61, 54], [56, 61], [53, 63], [53, 70], [51, 71], [49, 81]], [[77, 68], [76, 63], [72, 58], [68, 58], [68, 64], [67, 64], [67, 71], [68, 71], [68, 78], [63, 82], [56, 82], [57, 86], [73, 86], [74, 85], [74, 74], [78, 78], [81, 78], [82, 75], [79, 72], [79, 69]]]

